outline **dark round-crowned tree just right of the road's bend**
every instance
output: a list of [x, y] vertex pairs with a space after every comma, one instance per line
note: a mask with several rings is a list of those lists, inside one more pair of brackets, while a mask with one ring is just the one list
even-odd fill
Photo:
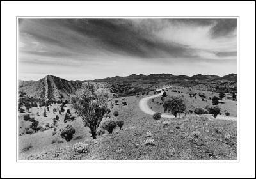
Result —
[[184, 111], [186, 110], [184, 97], [172, 96], [164, 102], [163, 107], [166, 108], [168, 111], [171, 111], [171, 113], [175, 116], [175, 118], [177, 118], [178, 113], [184, 113]]

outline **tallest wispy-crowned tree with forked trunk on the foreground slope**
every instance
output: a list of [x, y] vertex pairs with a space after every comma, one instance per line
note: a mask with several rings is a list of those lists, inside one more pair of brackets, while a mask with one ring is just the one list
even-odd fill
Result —
[[90, 128], [93, 139], [104, 114], [106, 113], [109, 92], [96, 88], [93, 84], [84, 84], [84, 88], [72, 96], [71, 101], [77, 114], [82, 118], [84, 126]]

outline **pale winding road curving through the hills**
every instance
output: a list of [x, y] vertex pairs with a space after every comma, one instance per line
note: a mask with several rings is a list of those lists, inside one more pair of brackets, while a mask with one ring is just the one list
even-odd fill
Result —
[[[172, 86], [170, 86], [172, 87]], [[170, 87], [166, 87], [166, 88], [170, 88]], [[161, 89], [157, 89], [156, 91], [162, 91], [162, 89], [166, 89], [166, 88], [161, 88]], [[156, 113], [156, 111], [153, 111], [152, 109], [150, 109], [150, 107], [148, 107], [148, 100], [152, 99], [152, 98], [156, 98], [156, 97], [159, 97], [162, 95], [163, 92], [161, 93], [158, 93], [156, 95], [152, 95], [150, 97], [145, 97], [145, 98], [142, 98], [139, 102], [139, 107], [141, 109], [141, 111], [143, 111], [144, 113], [146, 114], [149, 114], [149, 115], [153, 115], [154, 113]], [[187, 114], [187, 116], [195, 116], [195, 114]], [[209, 116], [210, 118], [212, 117], [211, 114], [206, 114], [205, 116]], [[161, 115], [162, 118], [175, 118], [174, 115], [169, 115], [169, 114], [162, 114]], [[213, 117], [212, 117], [213, 118]], [[234, 117], [234, 116], [217, 116], [217, 119], [219, 120], [237, 120], [237, 117]]]

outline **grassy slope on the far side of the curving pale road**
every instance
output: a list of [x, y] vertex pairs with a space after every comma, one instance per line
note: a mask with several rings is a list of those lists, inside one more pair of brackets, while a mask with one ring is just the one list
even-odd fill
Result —
[[[172, 89], [175, 89], [172, 88]], [[205, 108], [206, 105], [211, 106], [212, 105], [212, 100], [209, 100], [209, 97], [214, 97], [214, 95], [216, 97], [218, 97], [218, 93], [212, 93], [209, 91], [199, 91], [199, 90], [193, 90], [193, 91], [189, 91], [188, 88], [176, 88], [175, 90], [177, 91], [182, 91], [183, 93], [177, 93], [177, 92], [172, 92], [172, 89], [167, 89], [168, 91], [166, 91], [168, 96], [177, 96], [179, 97], [180, 95], [184, 95], [185, 97], [185, 104], [187, 109], [192, 109], [194, 110], [196, 107], [203, 107]], [[207, 101], [202, 101], [202, 99], [200, 97], [198, 97], [198, 95], [196, 95], [196, 98], [189, 97], [189, 93], [205, 93]], [[163, 108], [163, 101], [161, 100], [161, 97], [156, 97], [154, 98], [155, 102], [152, 102], [151, 100], [148, 101], [148, 105], [152, 107], [153, 111], [158, 111], [160, 113], [164, 113], [164, 108]], [[159, 104], [157, 105], [156, 102], [159, 102]], [[232, 101], [232, 100], [223, 100], [223, 103], [218, 104], [221, 107], [221, 113], [225, 114], [225, 110], [227, 110], [230, 113], [230, 116], [237, 116], [237, 102], [236, 101]], [[166, 113], [166, 114], [170, 114], [170, 113]]]

